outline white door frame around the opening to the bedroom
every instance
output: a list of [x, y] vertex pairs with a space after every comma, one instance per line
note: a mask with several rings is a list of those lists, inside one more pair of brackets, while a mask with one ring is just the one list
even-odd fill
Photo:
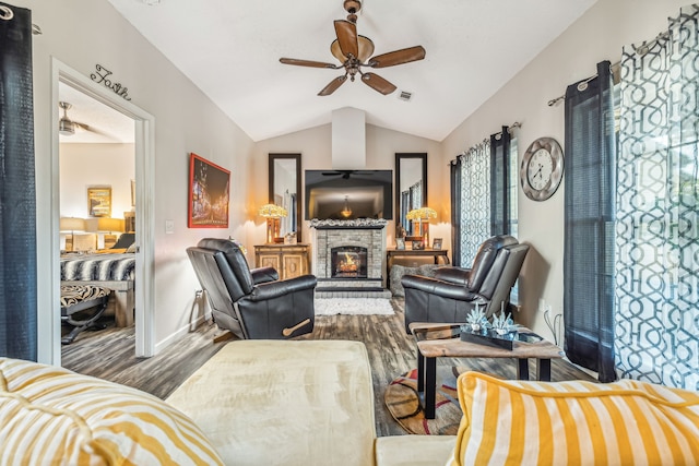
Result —
[[[60, 319], [60, 178], [59, 178], [59, 100], [58, 83], [62, 82], [106, 106], [133, 119], [135, 140], [135, 356], [155, 354], [155, 279], [154, 279], [154, 198], [155, 198], [155, 117], [114, 92], [100, 87], [60, 60], [51, 59], [51, 306], [39, 307], [38, 354], [50, 355], [50, 363], [61, 363]], [[47, 313], [50, 312], [50, 315]], [[49, 323], [48, 332], [43, 323]], [[48, 333], [48, 334], [47, 334]], [[48, 345], [48, 347], [43, 347]]]

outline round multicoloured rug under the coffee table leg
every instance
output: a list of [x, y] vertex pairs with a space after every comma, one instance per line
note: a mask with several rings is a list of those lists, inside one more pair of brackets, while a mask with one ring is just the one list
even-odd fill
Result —
[[417, 395], [417, 369], [395, 378], [386, 389], [383, 401], [393, 419], [410, 433], [455, 435], [462, 417], [457, 396], [458, 375], [458, 368], [437, 367], [435, 419], [425, 419]]

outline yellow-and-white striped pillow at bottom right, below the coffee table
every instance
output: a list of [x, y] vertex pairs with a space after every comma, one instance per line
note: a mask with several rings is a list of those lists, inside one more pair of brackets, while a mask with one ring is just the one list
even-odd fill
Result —
[[448, 465], [696, 465], [699, 394], [644, 382], [458, 381]]

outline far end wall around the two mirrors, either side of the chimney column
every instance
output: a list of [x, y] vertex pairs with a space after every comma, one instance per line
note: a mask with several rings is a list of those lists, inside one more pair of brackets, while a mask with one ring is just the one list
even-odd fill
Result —
[[[322, 170], [329, 168], [336, 168], [332, 166], [332, 130], [330, 124], [323, 124], [320, 127], [311, 128], [309, 130], [298, 131], [295, 133], [286, 134], [279, 138], [273, 138], [264, 141], [260, 141], [254, 147], [254, 174], [256, 174], [256, 191], [253, 198], [253, 205], [260, 206], [266, 203], [268, 187], [266, 187], [266, 171], [268, 171], [268, 154], [270, 153], [299, 153], [301, 154], [301, 178], [305, 176], [305, 170]], [[441, 166], [443, 156], [441, 152], [441, 144], [436, 141], [431, 141], [424, 138], [414, 136], [398, 131], [387, 130], [383, 128], [375, 127], [372, 124], [366, 126], [366, 166], [367, 169], [390, 169], [395, 170], [395, 153], [396, 152], [424, 152], [427, 153], [427, 177], [428, 177], [428, 199], [430, 206], [435, 205], [436, 210], [447, 208], [449, 200], [449, 190], [447, 189], [445, 201], [441, 187], [439, 186], [440, 170], [445, 167]], [[394, 171], [395, 181], [395, 171]], [[301, 180], [301, 189], [304, 188], [304, 180]], [[393, 191], [395, 187], [393, 188]], [[306, 202], [304, 199], [301, 202]], [[438, 208], [438, 207], [439, 208]], [[395, 211], [395, 200], [393, 200], [393, 211]], [[303, 214], [305, 215], [305, 213]], [[395, 215], [395, 212], [393, 212]], [[443, 219], [446, 218], [446, 220]], [[448, 222], [447, 217], [438, 218], [438, 222]], [[256, 241], [257, 243], [264, 242], [264, 222], [259, 217], [254, 220], [256, 224]], [[394, 222], [390, 220], [387, 227], [387, 240], [389, 246], [394, 246], [395, 241], [395, 227]], [[434, 225], [434, 229], [430, 229], [433, 237], [439, 237], [441, 229], [447, 229], [445, 225]], [[301, 225], [301, 241], [310, 242], [310, 229], [308, 228], [308, 222], [304, 220]], [[250, 254], [248, 254], [250, 259]]]

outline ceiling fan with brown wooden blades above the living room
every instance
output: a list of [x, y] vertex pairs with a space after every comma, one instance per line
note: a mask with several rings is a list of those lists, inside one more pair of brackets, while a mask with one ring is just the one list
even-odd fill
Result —
[[369, 58], [374, 53], [374, 43], [368, 37], [357, 34], [357, 12], [362, 9], [362, 2], [359, 0], [345, 0], [343, 5], [350, 14], [347, 14], [346, 20], [336, 20], [334, 22], [337, 38], [330, 45], [331, 53], [340, 60], [341, 64], [295, 58], [280, 58], [280, 61], [284, 64], [299, 67], [330, 68], [333, 70], [344, 68], [345, 74], [332, 80], [330, 84], [318, 93], [319, 96], [332, 94], [347, 81], [347, 76], [350, 76], [350, 81], [354, 81], [357, 74], [362, 76], [362, 82], [372, 89], [383, 95], [391, 94], [395, 91], [395, 86], [392, 83], [378, 74], [363, 72], [362, 68], [387, 68], [422, 60], [425, 58], [425, 49], [423, 46], [415, 46]]

